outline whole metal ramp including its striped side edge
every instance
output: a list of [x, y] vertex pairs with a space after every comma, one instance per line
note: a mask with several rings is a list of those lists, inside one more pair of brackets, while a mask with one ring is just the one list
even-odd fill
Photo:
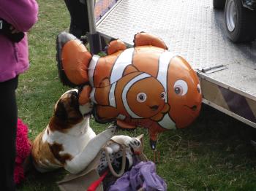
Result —
[[212, 0], [120, 0], [97, 31], [129, 45], [140, 31], [161, 37], [197, 71], [204, 103], [256, 128], [256, 42], [230, 42]]

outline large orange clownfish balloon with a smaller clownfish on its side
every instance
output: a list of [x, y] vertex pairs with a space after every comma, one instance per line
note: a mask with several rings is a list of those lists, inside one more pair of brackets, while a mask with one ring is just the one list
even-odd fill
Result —
[[61, 82], [83, 86], [80, 105], [91, 101], [97, 122], [148, 128], [155, 149], [158, 133], [185, 128], [198, 116], [202, 95], [197, 75], [162, 39], [136, 34], [132, 48], [113, 40], [104, 57], [91, 55], [72, 34], [59, 34], [57, 43]]

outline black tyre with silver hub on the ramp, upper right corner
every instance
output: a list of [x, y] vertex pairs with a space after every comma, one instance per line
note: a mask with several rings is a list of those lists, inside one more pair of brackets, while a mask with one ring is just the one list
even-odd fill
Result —
[[232, 42], [250, 42], [256, 37], [256, 14], [243, 7], [241, 0], [226, 1], [225, 23]]

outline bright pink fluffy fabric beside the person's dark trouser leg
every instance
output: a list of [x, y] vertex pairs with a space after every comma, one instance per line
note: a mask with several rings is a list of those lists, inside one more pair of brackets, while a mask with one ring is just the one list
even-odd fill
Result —
[[23, 162], [30, 155], [31, 143], [28, 139], [28, 127], [22, 120], [18, 119], [17, 125], [17, 136], [16, 136], [16, 158], [15, 158], [15, 171], [14, 180], [15, 184], [20, 184], [20, 182], [25, 179]]

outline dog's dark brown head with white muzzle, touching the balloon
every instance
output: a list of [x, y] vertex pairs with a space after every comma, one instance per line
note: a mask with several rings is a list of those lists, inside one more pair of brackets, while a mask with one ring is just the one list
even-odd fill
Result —
[[91, 112], [91, 104], [79, 106], [78, 90], [68, 90], [61, 95], [59, 101], [54, 106], [53, 117], [50, 120], [51, 130], [67, 130], [74, 125], [83, 122], [85, 117]]

